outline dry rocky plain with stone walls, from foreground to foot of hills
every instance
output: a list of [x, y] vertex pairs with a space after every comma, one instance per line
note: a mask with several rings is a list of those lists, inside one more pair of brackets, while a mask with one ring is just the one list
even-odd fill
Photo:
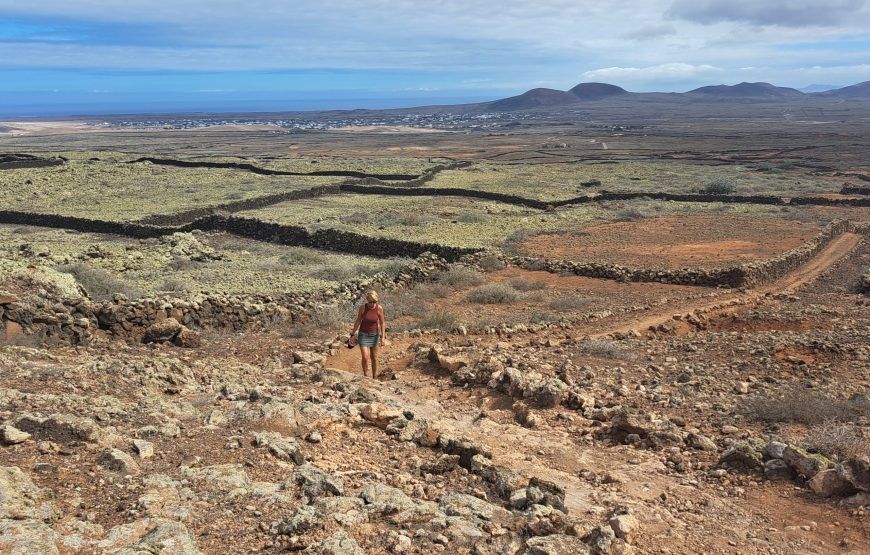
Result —
[[837, 106], [0, 134], [0, 553], [870, 552]]

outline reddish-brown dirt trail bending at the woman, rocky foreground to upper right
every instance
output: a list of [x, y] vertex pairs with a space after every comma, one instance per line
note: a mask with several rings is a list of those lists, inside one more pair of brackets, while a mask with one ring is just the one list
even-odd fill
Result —
[[[628, 318], [614, 317], [595, 325], [581, 324], [578, 329], [567, 328], [531, 340], [528, 334], [517, 333], [506, 337], [461, 337], [447, 339], [446, 343], [460, 350], [464, 346], [466, 352], [473, 346], [475, 351], [488, 348], [491, 349], [488, 352], [506, 353], [508, 357], [543, 344], [550, 344], [556, 353], [561, 353], [570, 352], [572, 344], [590, 339], [631, 337], [631, 333], [640, 337], [647, 329], [672, 323], [674, 314], [715, 312], [717, 317], [725, 317], [746, 313], [760, 305], [776, 305], [788, 299], [800, 287], [842, 262], [861, 242], [860, 235], [844, 234], [806, 264], [773, 283], [756, 289], [716, 293], [711, 301], [669, 304], [645, 311], [640, 318], [630, 313]], [[699, 330], [686, 326], [675, 331], [696, 333]], [[843, 552], [858, 553], [862, 548], [854, 551], [848, 547], [866, 545], [870, 538], [870, 527], [861, 518], [836, 514], [836, 526], [819, 526], [819, 522], [830, 522], [831, 507], [808, 504], [802, 499], [805, 496], [794, 496], [793, 488], [788, 485], [749, 481], [760, 489], [746, 495], [737, 485], [741, 484], [739, 479], [730, 486], [726, 480], [728, 493], [723, 499], [720, 495], [723, 487], [718, 480], [710, 483], [684, 477], [675, 481], [667, 461], [655, 454], [629, 446], [596, 447], [593, 439], [596, 432], [584, 429], [582, 412], [566, 411], [563, 407], [530, 410], [531, 402], [527, 404], [522, 398], [494, 390], [492, 383], [490, 386], [454, 383], [451, 369], [425, 356], [431, 344], [428, 339], [421, 342], [399, 336], [384, 349], [379, 380], [365, 379], [364, 383], [385, 399], [410, 408], [416, 415], [471, 438], [489, 450], [498, 464], [558, 484], [566, 492], [565, 505], [572, 514], [594, 518], [606, 513], [605, 506], [629, 507], [633, 514], [644, 515], [641, 517], [644, 539], [654, 542], [666, 537], [669, 549], [674, 552], [745, 552], [742, 550], [751, 549], [811, 553], [834, 549], [832, 537], [837, 537], [839, 546], [847, 548]], [[346, 372], [360, 372], [355, 350], [342, 349], [325, 364]], [[529, 414], [533, 416], [529, 418]], [[715, 458], [706, 461], [710, 468], [714, 463]], [[684, 520], [687, 515], [677, 516], [680, 511], [672, 510], [674, 505], [703, 509], [700, 514], [689, 515], [690, 518]], [[758, 533], [747, 535], [747, 527], [757, 529]], [[851, 532], [839, 537], [844, 528]], [[746, 536], [745, 541], [728, 539], [737, 535]], [[712, 538], [721, 539], [712, 541]]]

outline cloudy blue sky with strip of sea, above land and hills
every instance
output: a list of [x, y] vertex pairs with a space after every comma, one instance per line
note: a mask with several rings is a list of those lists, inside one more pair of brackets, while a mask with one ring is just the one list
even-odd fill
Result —
[[870, 80], [870, 0], [0, 0], [0, 115]]

